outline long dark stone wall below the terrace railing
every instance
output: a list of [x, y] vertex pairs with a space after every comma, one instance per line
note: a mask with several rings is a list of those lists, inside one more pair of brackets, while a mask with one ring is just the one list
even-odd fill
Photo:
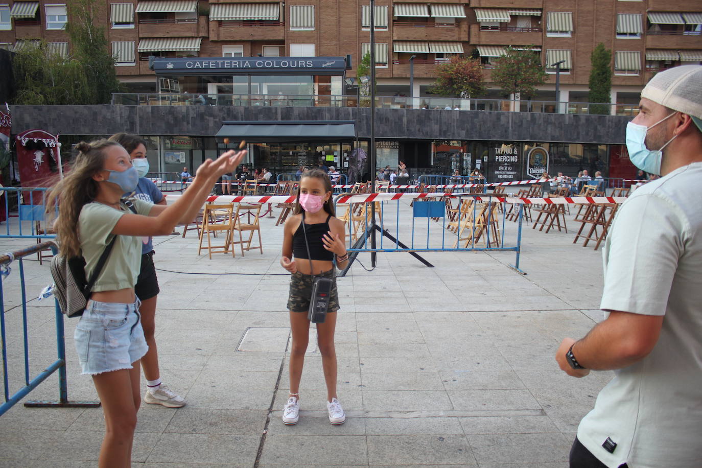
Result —
[[[41, 128], [62, 135], [215, 135], [223, 121], [356, 120], [370, 136], [367, 108], [219, 106], [11, 106], [13, 134]], [[357, 114], [358, 112], [358, 114]], [[623, 145], [630, 117], [535, 112], [376, 109], [376, 138], [508, 140]]]

